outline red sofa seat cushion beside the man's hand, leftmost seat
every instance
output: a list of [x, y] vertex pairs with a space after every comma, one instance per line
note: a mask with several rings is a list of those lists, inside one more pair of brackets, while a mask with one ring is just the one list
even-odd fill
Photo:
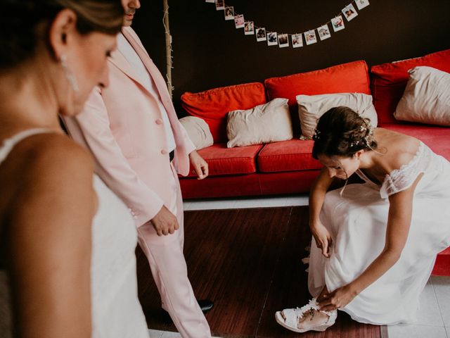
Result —
[[[200, 149], [198, 154], [208, 163], [210, 176], [238, 175], [256, 172], [256, 157], [261, 149], [262, 144], [227, 148], [226, 143], [215, 143]], [[192, 172], [188, 175], [195, 176]]]

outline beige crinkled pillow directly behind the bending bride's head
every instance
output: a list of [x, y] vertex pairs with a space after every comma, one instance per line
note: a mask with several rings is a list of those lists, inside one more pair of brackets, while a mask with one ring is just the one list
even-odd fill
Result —
[[378, 117], [372, 104], [372, 96], [362, 93], [339, 93], [321, 95], [297, 95], [302, 136], [300, 139], [312, 139], [317, 120], [331, 108], [346, 106], [371, 120], [372, 127], [378, 125]]

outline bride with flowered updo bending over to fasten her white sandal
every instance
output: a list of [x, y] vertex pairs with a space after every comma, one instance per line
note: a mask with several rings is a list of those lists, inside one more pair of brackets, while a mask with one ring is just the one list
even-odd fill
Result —
[[[414, 322], [436, 255], [450, 246], [449, 161], [347, 107], [321, 116], [313, 156], [324, 165], [309, 197], [314, 299], [278, 311], [277, 322], [323, 331], [337, 309], [361, 323]], [[353, 173], [364, 184], [327, 192]]]

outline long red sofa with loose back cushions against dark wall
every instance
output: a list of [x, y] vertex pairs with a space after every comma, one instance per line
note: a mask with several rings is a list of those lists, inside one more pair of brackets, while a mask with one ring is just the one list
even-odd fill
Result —
[[[393, 113], [409, 78], [407, 70], [428, 65], [450, 73], [450, 49], [394, 63], [374, 65], [370, 72], [365, 61], [354, 61], [322, 70], [283, 77], [272, 77], [264, 84], [253, 82], [184, 93], [183, 108], [189, 115], [203, 118], [214, 144], [200, 149], [210, 167], [210, 176], [196, 180], [180, 177], [185, 199], [225, 196], [255, 196], [309, 192], [321, 165], [311, 156], [312, 141], [298, 137], [285, 142], [227, 149], [226, 114], [248, 109], [277, 97], [289, 99], [293, 127], [300, 135], [298, 94], [361, 92], [372, 94], [378, 126], [421, 139], [437, 154], [450, 160], [450, 127], [405, 123]], [[450, 275], [450, 248], [439, 254], [433, 273]]]

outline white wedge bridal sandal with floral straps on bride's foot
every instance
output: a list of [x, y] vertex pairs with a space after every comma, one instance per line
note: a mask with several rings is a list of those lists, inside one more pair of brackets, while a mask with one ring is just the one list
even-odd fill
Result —
[[[298, 327], [299, 320], [303, 318], [305, 313], [310, 311], [320, 311], [321, 313], [325, 313], [328, 315], [328, 320], [326, 320], [325, 323], [317, 323], [314, 325], [308, 325], [305, 321], [302, 323], [304, 324], [302, 327]], [[283, 313], [284, 318], [281, 313]], [[338, 317], [338, 311], [321, 311], [315, 298], [311, 299], [307, 305], [302, 306], [301, 308], [285, 308], [283, 311], [277, 311], [275, 313], [275, 319], [278, 324], [288, 330], [300, 333], [307, 331], [325, 331], [335, 323], [336, 317]]]

